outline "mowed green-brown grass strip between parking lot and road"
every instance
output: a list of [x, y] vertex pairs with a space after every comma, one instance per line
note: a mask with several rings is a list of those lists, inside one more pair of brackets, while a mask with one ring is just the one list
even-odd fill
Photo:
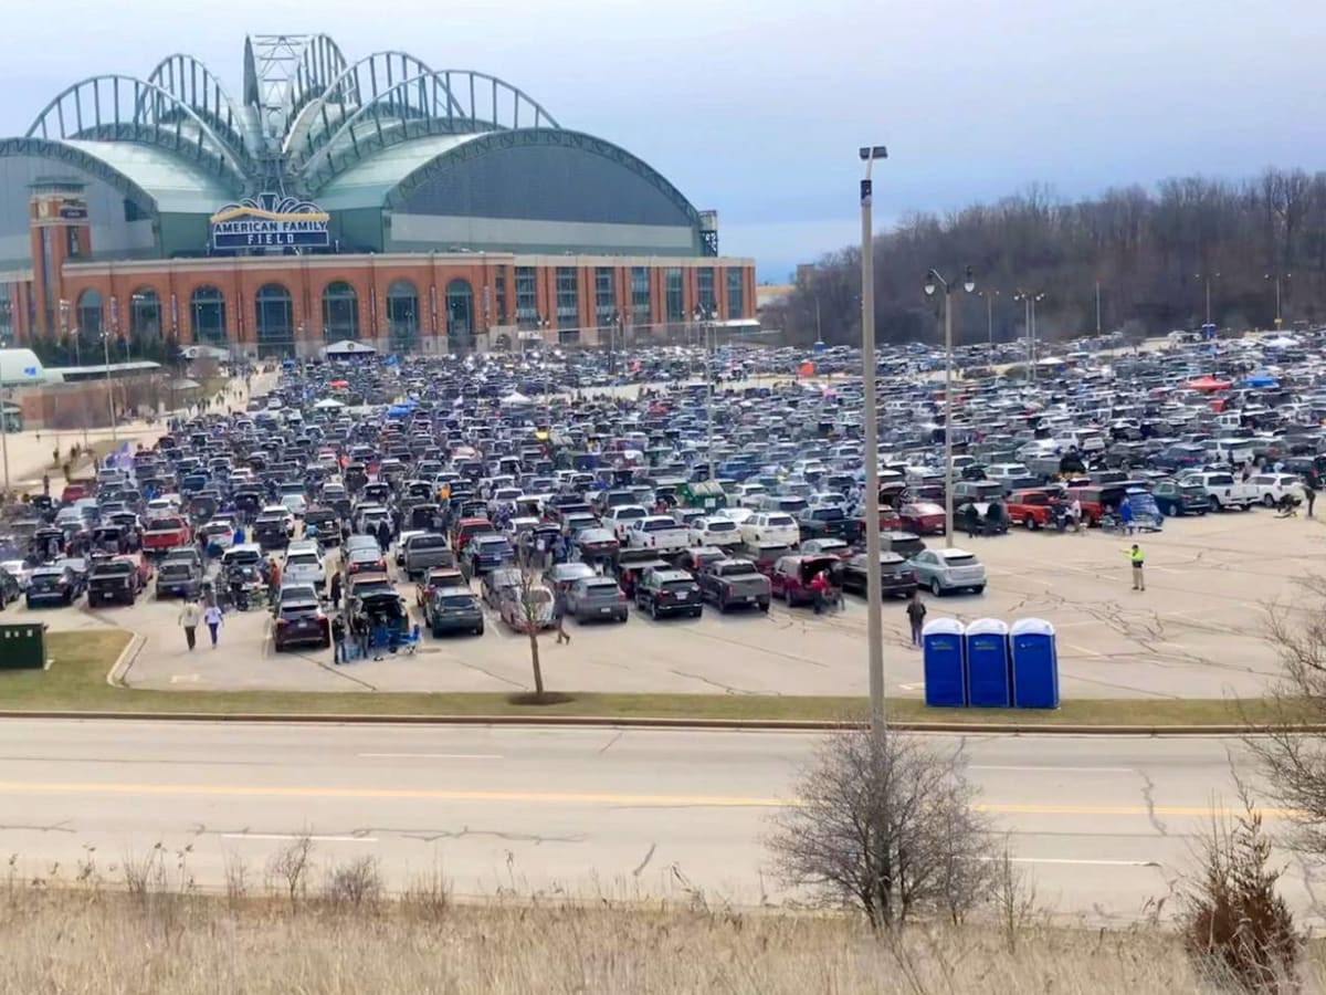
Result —
[[[106, 673], [130, 639], [125, 630], [49, 633], [45, 671], [0, 670], [0, 708], [9, 711], [211, 712], [216, 715], [402, 715], [656, 718], [842, 722], [866, 716], [855, 696], [572, 693], [556, 704], [517, 704], [507, 694], [394, 691], [156, 691], [111, 687]], [[1054, 711], [927, 708], [915, 698], [887, 703], [891, 722], [1021, 726], [1240, 726], [1274, 718], [1261, 699], [1110, 699], [1063, 702]]]

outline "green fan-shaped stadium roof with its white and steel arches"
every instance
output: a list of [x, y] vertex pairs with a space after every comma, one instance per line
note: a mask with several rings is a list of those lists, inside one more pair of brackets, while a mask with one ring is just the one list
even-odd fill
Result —
[[264, 191], [338, 210], [385, 206], [404, 180], [465, 146], [483, 154], [501, 135], [574, 135], [696, 216], [644, 163], [564, 131], [524, 90], [477, 70], [432, 69], [395, 50], [350, 62], [325, 34], [251, 36], [236, 93], [187, 54], [163, 58], [146, 78], [88, 77], [56, 96], [24, 138], [0, 142], [0, 155], [64, 159], [158, 212], [210, 212]]

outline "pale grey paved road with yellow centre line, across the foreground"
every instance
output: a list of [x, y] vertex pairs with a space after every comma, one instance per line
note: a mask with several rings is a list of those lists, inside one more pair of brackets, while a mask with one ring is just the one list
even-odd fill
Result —
[[[1232, 799], [1217, 739], [935, 738], [963, 750], [1038, 901], [1130, 921], [1191, 868]], [[314, 837], [320, 866], [373, 854], [390, 884], [435, 866], [457, 894], [565, 890], [751, 905], [785, 897], [761, 840], [812, 736], [610, 728], [0, 723], [0, 857], [25, 873], [86, 848], [102, 873], [162, 842], [220, 888]], [[1272, 828], [1282, 820], [1272, 813]], [[1292, 865], [1286, 897], [1313, 882]]]

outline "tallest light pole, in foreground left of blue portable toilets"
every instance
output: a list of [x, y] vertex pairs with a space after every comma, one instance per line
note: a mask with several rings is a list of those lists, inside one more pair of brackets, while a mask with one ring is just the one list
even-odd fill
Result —
[[870, 667], [870, 728], [884, 735], [884, 620], [879, 569], [879, 402], [875, 397], [875, 232], [870, 216], [870, 172], [875, 159], [887, 159], [882, 145], [861, 149], [866, 176], [861, 180], [861, 375], [862, 435], [866, 458], [866, 643]]

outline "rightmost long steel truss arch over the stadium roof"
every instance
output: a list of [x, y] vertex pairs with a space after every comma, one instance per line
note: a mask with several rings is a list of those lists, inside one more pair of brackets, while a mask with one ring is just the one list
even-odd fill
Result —
[[[467, 82], [461, 97], [456, 96], [455, 81]], [[483, 84], [483, 86], [480, 86]], [[464, 97], [468, 96], [468, 103]], [[501, 110], [507, 97], [511, 97], [511, 123], [503, 123]], [[481, 100], [488, 103], [480, 117]], [[529, 125], [521, 122], [521, 107], [533, 114]], [[386, 111], [386, 114], [379, 113]], [[459, 113], [457, 113], [459, 111]], [[390, 126], [383, 127], [383, 118]], [[366, 138], [355, 134], [355, 126], [374, 121], [375, 129]], [[358, 162], [366, 153], [387, 149], [424, 135], [473, 134], [476, 131], [514, 131], [522, 127], [536, 130], [558, 129], [560, 125], [542, 105], [505, 80], [473, 69], [443, 69], [402, 80], [374, 96], [350, 117], [338, 122], [333, 130], [312, 129], [304, 139], [304, 149], [297, 151], [292, 163], [305, 176], [316, 175], [320, 183], [326, 182], [346, 166]], [[339, 155], [337, 146], [349, 141], [349, 147]], [[324, 165], [325, 163], [325, 165]]]

